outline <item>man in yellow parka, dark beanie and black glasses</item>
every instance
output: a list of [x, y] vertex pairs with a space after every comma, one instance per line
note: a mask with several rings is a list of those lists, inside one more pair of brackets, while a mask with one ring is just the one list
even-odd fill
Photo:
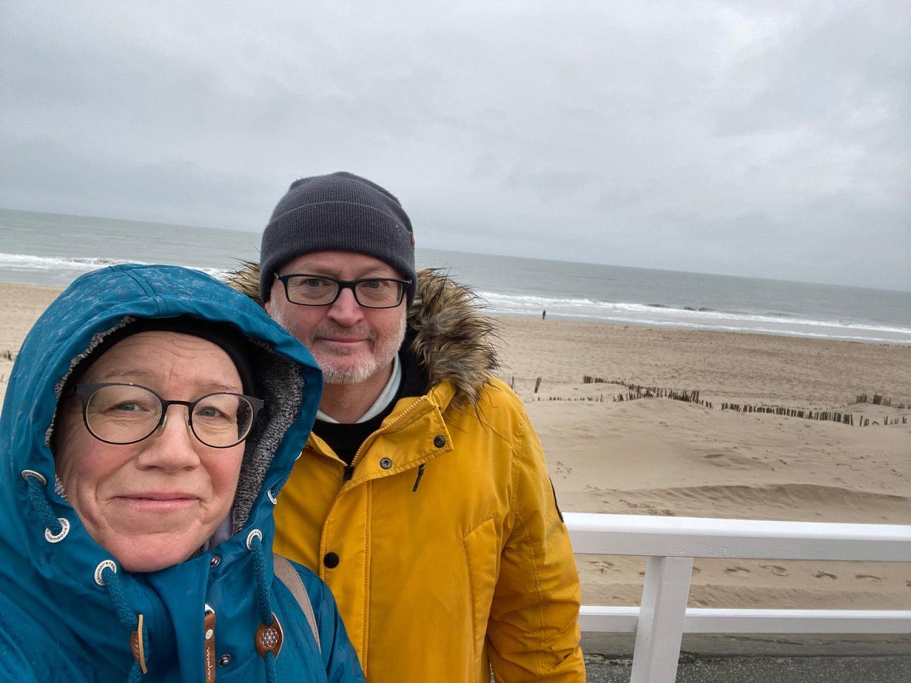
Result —
[[325, 382], [275, 550], [333, 589], [366, 678], [584, 681], [568, 532], [474, 295], [415, 273], [398, 199], [350, 173], [292, 184], [260, 265]]

